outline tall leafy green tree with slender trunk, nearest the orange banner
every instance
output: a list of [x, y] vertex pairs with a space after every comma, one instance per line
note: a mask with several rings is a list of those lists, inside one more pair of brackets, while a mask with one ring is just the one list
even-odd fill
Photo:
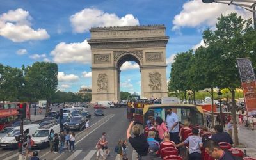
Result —
[[236, 58], [250, 57], [252, 48], [248, 48], [248, 40], [246, 33], [253, 32], [252, 21], [243, 20], [237, 17], [237, 13], [230, 15], [221, 15], [216, 24], [216, 30], [211, 31], [207, 29], [204, 31], [204, 42], [208, 45], [207, 48], [213, 50], [220, 49], [215, 52], [219, 57], [218, 69], [219, 74], [216, 79], [218, 83], [216, 86], [219, 88], [229, 88], [232, 95], [232, 119], [234, 122], [234, 141], [235, 145], [239, 145], [237, 126], [236, 126], [236, 102], [235, 90], [240, 86], [239, 72], [237, 69]]

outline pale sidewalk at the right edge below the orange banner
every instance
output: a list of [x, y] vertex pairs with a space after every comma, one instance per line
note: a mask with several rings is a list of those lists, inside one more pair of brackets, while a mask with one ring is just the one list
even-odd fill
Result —
[[[225, 128], [225, 130], [227, 131], [227, 127]], [[234, 140], [234, 131], [232, 138]], [[238, 127], [238, 139], [239, 144], [245, 145], [247, 155], [256, 158], [256, 130], [249, 130], [247, 129], [247, 127], [244, 126]], [[244, 151], [244, 148], [239, 149]]]

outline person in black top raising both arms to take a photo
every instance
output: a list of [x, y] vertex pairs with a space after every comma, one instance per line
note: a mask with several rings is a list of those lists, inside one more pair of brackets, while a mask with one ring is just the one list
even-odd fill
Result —
[[[132, 134], [135, 137], [131, 136], [131, 128], [132, 128]], [[138, 153], [138, 156], [141, 160], [150, 159], [148, 156], [148, 141], [147, 138], [144, 136], [144, 134], [140, 134], [140, 126], [134, 125], [134, 121], [132, 121], [126, 131], [126, 136], [129, 141], [129, 143], [132, 145], [134, 150]]]

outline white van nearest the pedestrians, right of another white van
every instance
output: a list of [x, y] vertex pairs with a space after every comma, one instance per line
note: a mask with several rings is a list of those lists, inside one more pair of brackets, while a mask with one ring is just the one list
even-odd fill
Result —
[[53, 131], [54, 133], [60, 133], [60, 124], [44, 125], [36, 130], [35, 134], [32, 134], [31, 139], [35, 141], [35, 145], [32, 148], [47, 148], [49, 146], [49, 135]]

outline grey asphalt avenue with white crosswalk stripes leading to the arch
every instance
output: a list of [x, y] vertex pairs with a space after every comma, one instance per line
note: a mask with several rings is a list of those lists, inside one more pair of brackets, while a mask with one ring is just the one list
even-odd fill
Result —
[[[52, 108], [52, 110], [60, 108]], [[109, 150], [111, 150], [111, 156], [107, 159], [115, 159], [114, 148], [118, 143], [118, 140], [126, 140], [126, 129], [129, 125], [129, 121], [126, 116], [126, 108], [108, 108], [104, 109], [104, 115], [102, 117], [95, 117], [93, 115], [93, 108], [86, 108], [90, 111], [92, 118], [90, 120], [90, 128], [88, 131], [76, 131], [75, 152], [65, 151], [63, 154], [54, 154], [49, 152], [49, 147], [39, 150], [39, 157], [41, 159], [95, 159], [96, 150], [95, 145], [99, 138], [102, 136], [102, 132], [107, 133], [107, 141]], [[44, 109], [43, 109], [44, 111]], [[43, 114], [43, 113], [42, 113]], [[132, 147], [129, 145], [128, 158], [132, 157]], [[2, 160], [17, 160], [19, 153], [17, 150], [0, 150], [0, 159]]]

